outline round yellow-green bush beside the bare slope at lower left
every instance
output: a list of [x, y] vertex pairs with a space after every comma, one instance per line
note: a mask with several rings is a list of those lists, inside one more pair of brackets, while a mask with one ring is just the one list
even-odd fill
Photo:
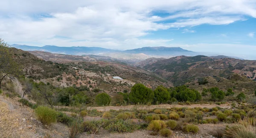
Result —
[[35, 109], [35, 114], [38, 120], [46, 125], [50, 125], [57, 120], [57, 112], [49, 107], [39, 106]]

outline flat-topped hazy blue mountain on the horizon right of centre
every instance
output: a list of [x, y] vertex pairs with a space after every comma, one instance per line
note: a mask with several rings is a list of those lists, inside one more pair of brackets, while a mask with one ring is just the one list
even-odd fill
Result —
[[131, 49], [123, 51], [124, 53], [132, 53], [132, 54], [146, 54], [146, 55], [161, 55], [161, 56], [195, 56], [198, 53], [193, 51], [188, 51], [182, 49], [180, 47], [143, 47], [137, 49]]

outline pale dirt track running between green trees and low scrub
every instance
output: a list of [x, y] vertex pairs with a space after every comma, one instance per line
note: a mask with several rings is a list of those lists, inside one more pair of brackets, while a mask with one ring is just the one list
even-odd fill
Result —
[[201, 107], [201, 108], [212, 108], [212, 107], [221, 107], [221, 108], [230, 108], [231, 106], [229, 104], [191, 104], [191, 105], [180, 105], [180, 104], [163, 104], [163, 105], [129, 105], [129, 106], [120, 106], [120, 107], [114, 107], [114, 106], [108, 106], [108, 107], [87, 107], [88, 110], [96, 109], [99, 111], [109, 111], [109, 110], [151, 110], [155, 108], [172, 108], [172, 107], [189, 107], [189, 108], [195, 108], [195, 107]]

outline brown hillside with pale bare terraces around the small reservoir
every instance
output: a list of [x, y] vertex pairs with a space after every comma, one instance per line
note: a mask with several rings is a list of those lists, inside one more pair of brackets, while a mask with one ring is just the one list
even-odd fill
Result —
[[[41, 51], [31, 52], [45, 60], [50, 60], [46, 62], [27, 51], [12, 49], [15, 54], [15, 61], [22, 65], [26, 77], [37, 82], [50, 82], [54, 86], [84, 85], [90, 89], [100, 88], [108, 93], [129, 90], [135, 83], [143, 83], [152, 88], [158, 85], [173, 86], [171, 82], [162, 79], [157, 74], [129, 66], [113, 58], [51, 54]], [[113, 79], [113, 76], [119, 76], [123, 80]]]

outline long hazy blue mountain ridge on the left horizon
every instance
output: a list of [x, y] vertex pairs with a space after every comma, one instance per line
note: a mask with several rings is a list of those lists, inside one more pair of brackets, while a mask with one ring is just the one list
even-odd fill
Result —
[[99, 47], [58, 47], [55, 45], [45, 45], [43, 47], [29, 46], [29, 45], [11, 45], [14, 48], [21, 49], [23, 51], [46, 51], [57, 54], [68, 55], [84, 55], [84, 54], [105, 54], [118, 52], [118, 50], [99, 48]]

